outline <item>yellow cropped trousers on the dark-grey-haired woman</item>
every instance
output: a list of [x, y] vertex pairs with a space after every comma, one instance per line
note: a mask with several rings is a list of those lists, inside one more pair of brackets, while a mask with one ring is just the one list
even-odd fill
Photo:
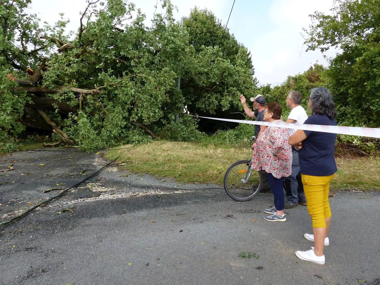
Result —
[[313, 228], [326, 228], [326, 218], [331, 217], [329, 187], [335, 173], [330, 176], [301, 174], [306, 196], [307, 211]]

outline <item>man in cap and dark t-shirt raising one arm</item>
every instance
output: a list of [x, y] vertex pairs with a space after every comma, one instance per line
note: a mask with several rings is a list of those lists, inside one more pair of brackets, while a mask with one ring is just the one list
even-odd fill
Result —
[[[264, 110], [265, 110], [265, 98], [261, 94], [257, 94], [256, 97], [250, 98], [250, 101], [253, 102], [253, 111], [247, 106], [245, 102], [244, 95], [240, 95], [240, 101], [243, 105], [244, 112], [250, 118], [255, 118], [258, 122], [264, 122]], [[255, 125], [255, 137], [257, 138], [260, 134], [265, 130], [266, 126]], [[266, 178], [266, 172], [261, 170], [261, 174], [263, 174], [263, 185], [261, 186], [262, 192], [269, 192], [271, 189], [269, 188], [269, 182]]]

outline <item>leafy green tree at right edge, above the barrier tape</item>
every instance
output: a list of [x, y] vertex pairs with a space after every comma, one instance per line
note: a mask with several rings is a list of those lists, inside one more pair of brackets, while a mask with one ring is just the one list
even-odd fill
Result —
[[336, 1], [331, 12], [310, 15], [304, 30], [308, 50], [338, 48], [326, 74], [337, 120], [380, 127], [380, 1]]

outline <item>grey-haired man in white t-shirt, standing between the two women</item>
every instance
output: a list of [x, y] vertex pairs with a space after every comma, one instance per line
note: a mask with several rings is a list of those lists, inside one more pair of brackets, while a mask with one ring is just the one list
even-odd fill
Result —
[[[286, 99], [286, 105], [290, 108], [290, 114], [287, 123], [299, 123], [302, 124], [307, 119], [307, 114], [304, 108], [300, 106], [302, 100], [301, 93], [297, 91], [289, 91]], [[289, 129], [289, 135], [293, 135], [297, 128]], [[293, 162], [291, 165], [291, 174], [284, 180], [285, 192], [287, 195], [287, 201], [285, 202], [285, 208], [291, 209], [298, 206], [298, 204], [306, 205], [306, 198], [304, 193], [304, 187], [301, 179], [297, 179], [300, 176], [299, 161], [298, 161], [298, 149], [291, 148], [293, 153]]]

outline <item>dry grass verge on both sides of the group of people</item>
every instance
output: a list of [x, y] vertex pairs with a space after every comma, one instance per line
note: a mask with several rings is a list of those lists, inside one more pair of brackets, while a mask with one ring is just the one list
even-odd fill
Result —
[[[118, 155], [122, 167], [134, 173], [149, 173], [177, 182], [222, 185], [226, 169], [237, 160], [249, 159], [252, 150], [233, 146], [215, 146], [196, 142], [154, 141], [129, 149], [110, 150], [110, 159]], [[117, 147], [121, 148], [121, 147]], [[332, 188], [380, 189], [380, 158], [336, 158], [338, 173]]]

